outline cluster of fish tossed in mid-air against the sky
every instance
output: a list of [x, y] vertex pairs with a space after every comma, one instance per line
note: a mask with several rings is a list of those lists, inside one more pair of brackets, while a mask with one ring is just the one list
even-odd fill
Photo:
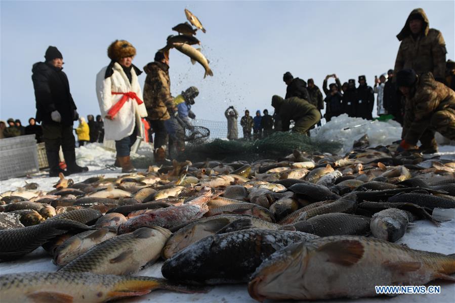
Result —
[[[158, 51], [163, 53], [165, 58], [169, 59], [169, 51], [172, 48], [175, 48], [180, 53], [188, 56], [191, 59], [192, 64], [196, 64], [196, 62], [198, 62], [202, 65], [205, 70], [204, 78], [208, 75], [213, 76], [213, 72], [209, 66], [210, 61], [207, 60], [201, 53], [200, 48], [194, 48], [191, 46], [194, 44], [200, 44], [200, 41], [194, 37], [194, 35], [198, 29], [205, 33], [205, 28], [202, 26], [199, 19], [187, 9], [185, 9], [185, 16], [191, 24], [185, 22], [174, 26], [172, 30], [178, 32], [179, 34], [168, 36], [166, 46]], [[196, 29], [193, 28], [193, 25]]]

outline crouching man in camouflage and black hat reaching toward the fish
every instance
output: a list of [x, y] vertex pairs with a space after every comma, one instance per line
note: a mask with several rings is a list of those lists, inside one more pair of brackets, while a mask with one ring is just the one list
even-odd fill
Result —
[[398, 151], [415, 149], [420, 140], [423, 153], [437, 153], [435, 131], [455, 140], [455, 91], [436, 81], [431, 72], [418, 76], [412, 69], [403, 69], [396, 77], [396, 84], [406, 98]]

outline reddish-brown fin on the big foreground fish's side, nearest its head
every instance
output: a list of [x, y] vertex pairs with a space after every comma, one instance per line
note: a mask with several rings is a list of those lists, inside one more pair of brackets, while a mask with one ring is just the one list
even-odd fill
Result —
[[363, 257], [364, 249], [361, 242], [356, 240], [340, 240], [327, 243], [317, 250], [328, 255], [328, 262], [352, 266]]

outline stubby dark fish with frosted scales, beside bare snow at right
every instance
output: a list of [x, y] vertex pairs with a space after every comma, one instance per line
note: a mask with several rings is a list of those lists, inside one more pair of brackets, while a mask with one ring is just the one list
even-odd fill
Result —
[[407, 211], [395, 208], [380, 211], [371, 218], [371, 234], [378, 239], [396, 242], [405, 234], [412, 220], [412, 214]]

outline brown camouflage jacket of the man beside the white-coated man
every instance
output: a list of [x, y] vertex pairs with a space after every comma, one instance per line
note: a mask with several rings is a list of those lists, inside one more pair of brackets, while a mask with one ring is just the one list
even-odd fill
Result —
[[151, 62], [144, 66], [147, 74], [144, 84], [144, 104], [150, 120], [168, 120], [177, 111], [171, 95], [169, 66]]

